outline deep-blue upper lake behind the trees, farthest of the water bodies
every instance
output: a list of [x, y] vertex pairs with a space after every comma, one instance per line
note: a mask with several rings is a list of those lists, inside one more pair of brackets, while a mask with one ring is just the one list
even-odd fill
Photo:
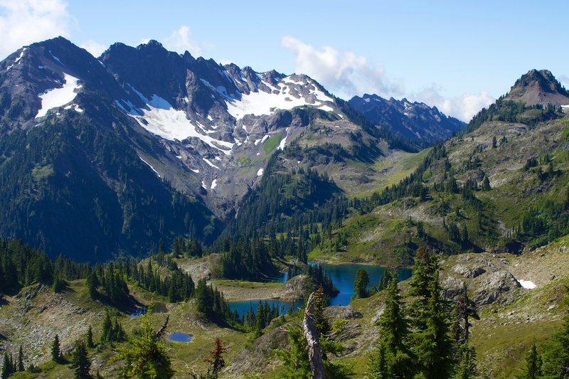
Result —
[[[368, 289], [378, 286], [379, 281], [383, 279], [385, 267], [373, 265], [361, 265], [357, 263], [346, 263], [341, 265], [333, 265], [324, 262], [308, 262], [309, 265], [321, 265], [329, 277], [334, 282], [337, 289], [340, 290], [338, 296], [330, 299], [331, 305], [348, 305], [351, 297], [353, 297], [353, 282], [356, 280], [356, 273], [359, 269], [365, 269], [369, 275]], [[411, 277], [411, 269], [396, 269], [398, 282], [409, 279]]]

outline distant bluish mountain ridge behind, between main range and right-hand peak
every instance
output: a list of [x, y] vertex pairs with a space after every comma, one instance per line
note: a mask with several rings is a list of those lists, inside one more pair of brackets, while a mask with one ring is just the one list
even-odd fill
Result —
[[464, 122], [447, 117], [437, 107], [407, 99], [395, 100], [391, 97], [385, 100], [378, 95], [366, 94], [352, 97], [349, 105], [374, 124], [382, 125], [421, 147], [445, 140], [466, 127]]

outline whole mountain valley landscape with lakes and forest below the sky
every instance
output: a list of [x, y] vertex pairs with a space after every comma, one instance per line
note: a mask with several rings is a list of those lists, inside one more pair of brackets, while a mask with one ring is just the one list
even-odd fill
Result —
[[77, 375], [81, 346], [93, 377], [146, 378], [154, 346], [151, 378], [310, 378], [310, 323], [331, 378], [513, 378], [532, 346], [558, 377], [569, 92], [548, 70], [465, 124], [157, 41], [58, 37], [0, 68], [5, 378]]

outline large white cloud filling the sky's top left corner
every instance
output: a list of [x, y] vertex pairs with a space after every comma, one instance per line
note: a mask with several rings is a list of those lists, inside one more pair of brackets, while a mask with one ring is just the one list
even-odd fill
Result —
[[0, 56], [33, 42], [68, 37], [74, 24], [62, 0], [0, 0]]

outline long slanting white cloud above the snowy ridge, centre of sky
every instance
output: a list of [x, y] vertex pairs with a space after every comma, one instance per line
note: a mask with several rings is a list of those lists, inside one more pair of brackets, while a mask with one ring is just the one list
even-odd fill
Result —
[[314, 48], [297, 38], [285, 36], [281, 44], [296, 55], [296, 72], [309, 75], [339, 96], [376, 93], [401, 95], [403, 87], [387, 80], [381, 66], [371, 65], [366, 57], [331, 46]]

